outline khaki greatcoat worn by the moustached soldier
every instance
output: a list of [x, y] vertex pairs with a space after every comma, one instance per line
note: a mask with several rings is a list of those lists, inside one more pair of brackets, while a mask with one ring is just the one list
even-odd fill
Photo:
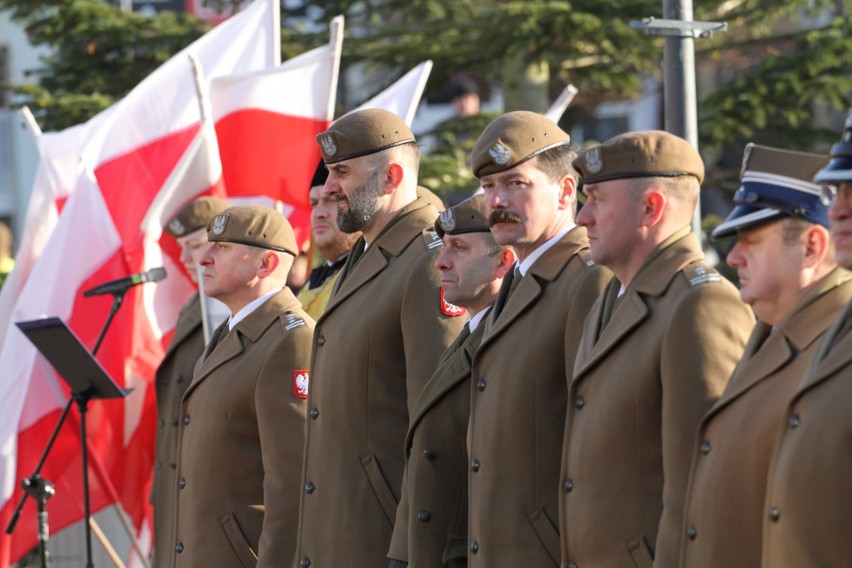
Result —
[[474, 356], [470, 552], [477, 567], [559, 565], [559, 463], [568, 377], [582, 328], [609, 272], [575, 227], [506, 298], [504, 282]]

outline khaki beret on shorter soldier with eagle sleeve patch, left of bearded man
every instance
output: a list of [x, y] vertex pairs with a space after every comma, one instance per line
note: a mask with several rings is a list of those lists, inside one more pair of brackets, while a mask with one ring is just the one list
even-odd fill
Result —
[[278, 211], [263, 205], [238, 205], [225, 209], [207, 225], [210, 242], [241, 243], [279, 252], [299, 254], [293, 228]]

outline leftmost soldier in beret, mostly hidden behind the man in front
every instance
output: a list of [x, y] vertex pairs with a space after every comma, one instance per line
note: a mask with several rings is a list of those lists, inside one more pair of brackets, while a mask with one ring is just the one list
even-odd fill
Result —
[[[181, 250], [180, 260], [193, 282], [198, 278], [198, 261], [207, 248], [207, 223], [227, 208], [228, 202], [224, 199], [199, 197], [184, 205], [164, 228], [166, 233], [177, 240]], [[204, 351], [201, 301], [196, 292], [180, 311], [174, 335], [157, 368], [154, 381], [157, 393], [157, 444], [151, 504], [154, 506], [153, 558], [157, 566], [168, 566], [174, 544], [172, 535], [178, 491], [176, 472], [180, 399], [192, 381], [195, 363]]]

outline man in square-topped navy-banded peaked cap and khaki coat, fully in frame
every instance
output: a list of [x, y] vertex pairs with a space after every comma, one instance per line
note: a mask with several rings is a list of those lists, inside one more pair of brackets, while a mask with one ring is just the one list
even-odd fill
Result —
[[828, 206], [811, 182], [827, 161], [750, 144], [736, 208], [713, 232], [737, 235], [727, 260], [758, 323], [693, 444], [679, 567], [760, 566], [778, 429], [819, 338], [852, 299], [852, 274], [837, 268]]

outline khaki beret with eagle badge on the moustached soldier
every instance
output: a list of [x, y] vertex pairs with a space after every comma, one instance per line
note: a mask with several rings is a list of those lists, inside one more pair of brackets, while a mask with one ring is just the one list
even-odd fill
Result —
[[470, 155], [471, 169], [478, 178], [504, 172], [570, 143], [568, 133], [544, 115], [525, 110], [507, 112], [482, 131]]

